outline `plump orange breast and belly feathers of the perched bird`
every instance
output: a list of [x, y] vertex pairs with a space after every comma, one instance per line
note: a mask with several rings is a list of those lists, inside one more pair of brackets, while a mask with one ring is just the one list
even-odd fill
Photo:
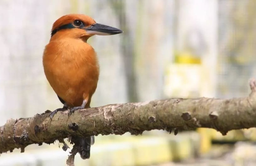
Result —
[[81, 39], [53, 38], [45, 46], [44, 73], [55, 93], [68, 106], [90, 105], [99, 79], [94, 49]]

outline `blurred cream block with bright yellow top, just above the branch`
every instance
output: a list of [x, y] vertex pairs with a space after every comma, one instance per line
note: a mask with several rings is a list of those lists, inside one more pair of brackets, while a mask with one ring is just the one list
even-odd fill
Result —
[[165, 70], [164, 94], [167, 97], [192, 98], [203, 93], [205, 76], [201, 58], [189, 52], [176, 52], [174, 63]]

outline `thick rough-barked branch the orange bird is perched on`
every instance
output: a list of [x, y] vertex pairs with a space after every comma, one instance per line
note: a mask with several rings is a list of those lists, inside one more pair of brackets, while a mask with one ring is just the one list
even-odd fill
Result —
[[256, 81], [250, 81], [251, 94], [236, 99], [166, 99], [149, 102], [110, 104], [81, 109], [68, 117], [49, 112], [34, 117], [10, 119], [0, 127], [0, 153], [30, 144], [53, 143], [71, 136], [124, 134], [138, 135], [145, 130], [213, 128], [225, 135], [234, 129], [256, 126]]

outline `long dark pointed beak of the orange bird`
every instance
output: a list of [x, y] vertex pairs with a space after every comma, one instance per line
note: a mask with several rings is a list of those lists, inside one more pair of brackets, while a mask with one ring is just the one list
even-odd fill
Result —
[[87, 34], [98, 34], [98, 35], [112, 35], [123, 33], [122, 30], [106, 26], [102, 24], [95, 23], [89, 27], [85, 28]]

